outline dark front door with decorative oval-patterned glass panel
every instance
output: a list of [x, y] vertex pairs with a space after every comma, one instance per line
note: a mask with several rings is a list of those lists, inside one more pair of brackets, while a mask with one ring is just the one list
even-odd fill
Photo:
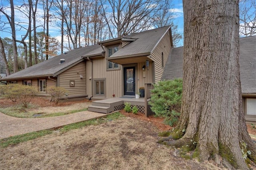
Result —
[[124, 67], [124, 95], [135, 95], [135, 67]]

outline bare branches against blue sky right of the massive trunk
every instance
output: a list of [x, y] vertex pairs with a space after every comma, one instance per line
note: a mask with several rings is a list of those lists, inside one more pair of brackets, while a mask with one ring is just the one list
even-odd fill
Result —
[[240, 0], [240, 36], [253, 36], [256, 34], [256, 2], [253, 0]]

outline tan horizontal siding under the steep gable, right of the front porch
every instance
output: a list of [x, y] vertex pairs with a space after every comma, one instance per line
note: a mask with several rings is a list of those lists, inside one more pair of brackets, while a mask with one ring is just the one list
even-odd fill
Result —
[[[170, 41], [170, 33], [166, 32], [162, 40], [158, 43], [156, 48], [151, 54], [152, 60], [155, 62], [155, 82], [161, 80], [164, 67], [167, 63], [168, 55], [170, 53], [170, 50], [172, 48], [171, 41]], [[164, 67], [162, 67], [162, 52], [164, 54]]]

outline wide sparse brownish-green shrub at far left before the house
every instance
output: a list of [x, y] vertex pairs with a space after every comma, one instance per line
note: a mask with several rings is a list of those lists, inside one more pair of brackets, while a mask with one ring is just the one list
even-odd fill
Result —
[[13, 102], [19, 101], [23, 107], [28, 107], [30, 101], [38, 93], [36, 87], [20, 84], [10, 84], [4, 87], [3, 97]]

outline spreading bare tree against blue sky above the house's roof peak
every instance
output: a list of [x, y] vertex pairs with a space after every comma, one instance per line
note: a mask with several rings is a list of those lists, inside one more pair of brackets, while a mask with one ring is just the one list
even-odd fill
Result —
[[[103, 0], [101, 0], [103, 3]], [[147, 30], [152, 16], [159, 9], [160, 0], [108, 0], [111, 9], [103, 8], [112, 38]], [[111, 13], [107, 12], [111, 10]], [[115, 29], [112, 29], [114, 27]]]

